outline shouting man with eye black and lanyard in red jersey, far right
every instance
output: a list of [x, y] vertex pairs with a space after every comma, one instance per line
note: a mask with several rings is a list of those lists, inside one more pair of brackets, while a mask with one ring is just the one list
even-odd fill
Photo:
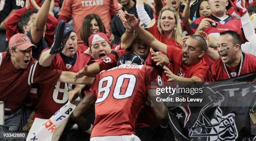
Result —
[[217, 43], [220, 59], [209, 67], [209, 81], [221, 81], [256, 71], [256, 57], [242, 52], [239, 38], [234, 31], [220, 33]]

